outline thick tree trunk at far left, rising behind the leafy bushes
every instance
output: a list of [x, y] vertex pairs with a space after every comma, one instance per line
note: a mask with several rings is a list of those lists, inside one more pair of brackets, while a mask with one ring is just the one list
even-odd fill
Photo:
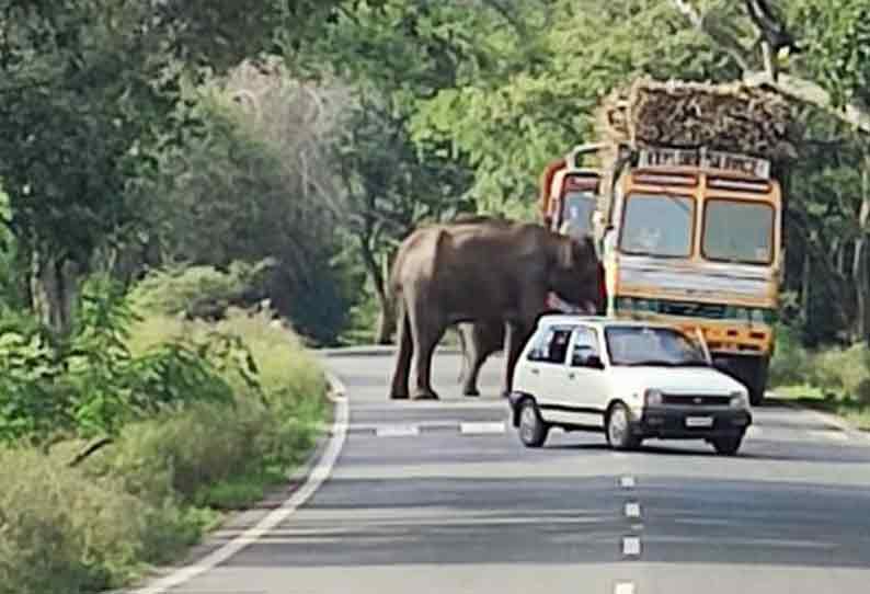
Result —
[[31, 256], [31, 307], [58, 336], [67, 336], [72, 330], [80, 275], [81, 267], [71, 260], [38, 250]]

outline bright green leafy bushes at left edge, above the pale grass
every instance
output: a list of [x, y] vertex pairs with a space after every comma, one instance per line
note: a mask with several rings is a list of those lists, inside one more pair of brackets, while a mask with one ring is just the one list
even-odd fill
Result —
[[250, 376], [238, 340], [213, 333], [180, 338], [134, 356], [134, 313], [116, 285], [93, 279], [82, 294], [72, 335], [56, 342], [38, 324], [0, 329], [0, 441], [44, 443], [59, 435], [116, 434], [133, 420], [190, 402], [227, 402], [225, 368]]

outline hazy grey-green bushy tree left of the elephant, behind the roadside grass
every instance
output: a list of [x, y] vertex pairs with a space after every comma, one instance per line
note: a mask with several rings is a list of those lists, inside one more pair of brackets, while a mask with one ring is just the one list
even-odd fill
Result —
[[[289, 84], [281, 78], [272, 83]], [[191, 310], [267, 297], [299, 332], [330, 343], [348, 301], [342, 271], [332, 265], [340, 247], [330, 198], [312, 192], [305, 183], [309, 174], [290, 167], [295, 152], [305, 150], [295, 148], [297, 139], [284, 138], [290, 147], [279, 146], [227, 103], [222, 95], [206, 95], [206, 134], [167, 164], [156, 226], [168, 256], [195, 265], [154, 282], [175, 282], [180, 288], [167, 298]], [[279, 124], [288, 135], [299, 125]], [[153, 295], [160, 298], [160, 292]], [[181, 302], [172, 308], [180, 311]]]

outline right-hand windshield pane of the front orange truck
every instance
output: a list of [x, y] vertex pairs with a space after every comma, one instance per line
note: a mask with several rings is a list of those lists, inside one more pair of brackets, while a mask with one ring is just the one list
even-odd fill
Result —
[[708, 199], [702, 253], [708, 260], [769, 264], [774, 208], [769, 204]]

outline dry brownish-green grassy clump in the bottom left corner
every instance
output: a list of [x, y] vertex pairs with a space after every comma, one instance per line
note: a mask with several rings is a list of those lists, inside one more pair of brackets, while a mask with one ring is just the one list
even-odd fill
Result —
[[197, 529], [113, 478], [94, 480], [33, 449], [0, 450], [0, 593], [119, 586], [168, 560]]

